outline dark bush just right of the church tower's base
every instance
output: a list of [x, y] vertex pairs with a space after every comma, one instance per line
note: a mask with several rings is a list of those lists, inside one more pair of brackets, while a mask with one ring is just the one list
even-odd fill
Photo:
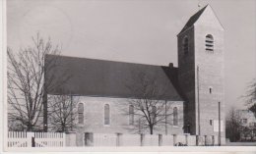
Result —
[[230, 141], [237, 141], [240, 139], [242, 133], [241, 117], [234, 107], [231, 107], [226, 116], [225, 135]]

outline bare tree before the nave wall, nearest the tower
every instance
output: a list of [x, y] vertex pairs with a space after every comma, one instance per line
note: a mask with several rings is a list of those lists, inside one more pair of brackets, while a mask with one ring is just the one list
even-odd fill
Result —
[[[154, 74], [154, 73], [153, 73]], [[160, 85], [158, 74], [148, 76], [145, 72], [132, 72], [132, 77], [127, 88], [134, 99], [129, 99], [128, 103], [133, 108], [127, 115], [136, 121], [137, 128], [149, 129], [153, 134], [157, 126], [177, 124], [178, 118], [171, 122], [173, 115], [173, 103], [166, 100], [166, 86]], [[135, 117], [136, 118], [135, 118]], [[130, 122], [131, 123], [131, 122]]]

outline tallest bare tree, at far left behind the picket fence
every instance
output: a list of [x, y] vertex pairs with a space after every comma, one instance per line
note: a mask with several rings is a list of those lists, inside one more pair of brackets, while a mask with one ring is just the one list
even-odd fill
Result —
[[[32, 45], [19, 52], [7, 49], [8, 55], [8, 104], [9, 123], [19, 122], [25, 130], [40, 129], [42, 125], [43, 98], [47, 97], [44, 84], [45, 70], [56, 66], [51, 59], [45, 65], [47, 54], [58, 55], [60, 48], [53, 46], [50, 38], [44, 40], [39, 33], [32, 37]], [[56, 86], [56, 85], [54, 85]]]

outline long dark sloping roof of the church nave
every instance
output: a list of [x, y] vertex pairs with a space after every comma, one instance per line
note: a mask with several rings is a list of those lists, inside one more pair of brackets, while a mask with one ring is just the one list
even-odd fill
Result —
[[182, 101], [177, 68], [55, 55], [46, 55], [45, 65], [53, 59], [57, 65], [45, 70], [46, 87], [64, 77], [68, 79], [54, 88], [47, 88], [48, 94], [138, 98], [142, 96], [130, 87], [140, 84], [141, 80], [134, 75], [143, 73], [156, 78], [158, 89], [164, 89], [163, 99]]

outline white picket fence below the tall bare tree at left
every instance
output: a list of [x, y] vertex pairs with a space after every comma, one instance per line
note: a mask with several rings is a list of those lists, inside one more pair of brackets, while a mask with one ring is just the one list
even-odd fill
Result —
[[9, 131], [8, 147], [63, 147], [66, 137], [61, 132]]

